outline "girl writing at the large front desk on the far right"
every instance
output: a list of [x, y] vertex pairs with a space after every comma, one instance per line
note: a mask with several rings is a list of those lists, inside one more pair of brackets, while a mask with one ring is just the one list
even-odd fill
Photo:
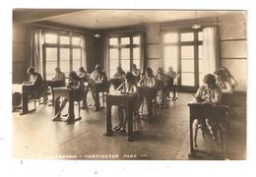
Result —
[[[222, 90], [216, 84], [216, 78], [212, 74], [208, 74], [204, 77], [204, 84], [201, 86], [196, 94], [195, 99], [197, 102], [210, 103], [210, 104], [221, 104], [222, 100]], [[209, 119], [207, 117], [199, 117], [195, 119], [194, 125], [196, 127], [207, 125], [213, 139], [215, 139], [214, 127], [217, 124], [217, 119]]]

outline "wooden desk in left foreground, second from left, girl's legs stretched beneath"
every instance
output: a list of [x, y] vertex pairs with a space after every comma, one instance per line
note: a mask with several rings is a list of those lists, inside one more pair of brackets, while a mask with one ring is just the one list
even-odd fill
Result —
[[61, 96], [63, 96], [63, 97], [66, 97], [69, 101], [69, 108], [68, 108], [69, 117], [67, 118], [69, 120], [68, 124], [81, 120], [80, 116], [78, 118], [75, 118], [75, 113], [74, 113], [74, 102], [82, 100], [82, 94], [80, 93], [80, 90], [63, 87], [63, 88], [54, 88], [53, 92], [55, 95], [55, 100], [54, 100], [55, 115], [57, 114], [60, 108], [59, 99]]

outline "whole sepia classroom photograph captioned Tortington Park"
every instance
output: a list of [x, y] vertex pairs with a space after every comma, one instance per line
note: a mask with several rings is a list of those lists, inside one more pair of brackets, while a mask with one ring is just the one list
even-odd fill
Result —
[[13, 9], [13, 157], [245, 160], [245, 10]]

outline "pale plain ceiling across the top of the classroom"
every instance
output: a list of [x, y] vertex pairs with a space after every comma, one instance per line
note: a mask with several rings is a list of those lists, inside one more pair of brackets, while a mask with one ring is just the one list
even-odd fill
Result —
[[181, 10], [81, 10], [81, 9], [15, 9], [14, 22], [51, 22], [85, 29], [109, 29], [151, 23], [214, 18], [241, 14], [242, 11]]

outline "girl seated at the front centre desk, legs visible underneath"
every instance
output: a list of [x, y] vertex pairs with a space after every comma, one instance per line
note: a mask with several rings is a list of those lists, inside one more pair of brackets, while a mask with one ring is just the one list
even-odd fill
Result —
[[[133, 128], [135, 133], [140, 133], [142, 126], [141, 122], [138, 116], [138, 110], [141, 105], [141, 98], [139, 97], [138, 94], [138, 88], [136, 85], [136, 80], [135, 77], [131, 72], [128, 72], [125, 75], [125, 82], [123, 82], [117, 90], [121, 90], [121, 92], [124, 93], [132, 93], [132, 94], [137, 94], [137, 101], [135, 103], [133, 112], [134, 112], [134, 120], [133, 120]], [[124, 109], [121, 106], [118, 106], [118, 118], [119, 118], [119, 124], [118, 126], [114, 127], [114, 131], [120, 132], [121, 134], [126, 133], [126, 124], [127, 124], [127, 115]]]

